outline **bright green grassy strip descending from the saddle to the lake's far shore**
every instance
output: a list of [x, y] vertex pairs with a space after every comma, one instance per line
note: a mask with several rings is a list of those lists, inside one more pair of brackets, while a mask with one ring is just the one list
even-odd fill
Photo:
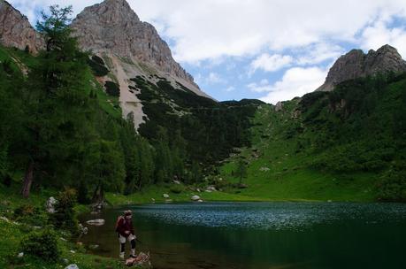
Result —
[[[249, 161], [248, 178], [243, 180], [249, 188], [238, 190], [241, 195], [271, 200], [372, 200], [371, 188], [365, 187], [370, 185], [371, 174], [351, 174], [356, 181], [342, 182], [341, 174], [310, 168], [312, 157], [295, 152], [295, 140], [284, 137], [289, 118], [288, 110], [278, 114], [270, 105], [257, 111], [254, 147], [241, 153]], [[223, 178], [235, 183], [236, 158], [221, 169]]]

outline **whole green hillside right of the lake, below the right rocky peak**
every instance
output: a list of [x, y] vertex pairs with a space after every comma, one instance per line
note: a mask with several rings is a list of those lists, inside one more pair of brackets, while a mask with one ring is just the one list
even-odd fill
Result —
[[[244, 196], [271, 199], [405, 201], [406, 75], [348, 81], [262, 105], [254, 119]], [[221, 175], [236, 182], [238, 158]]]

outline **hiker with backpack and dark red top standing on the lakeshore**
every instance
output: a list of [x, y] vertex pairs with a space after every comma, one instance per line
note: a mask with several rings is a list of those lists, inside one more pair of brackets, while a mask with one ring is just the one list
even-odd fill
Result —
[[124, 211], [124, 216], [119, 216], [116, 222], [116, 232], [119, 235], [120, 252], [119, 257], [125, 257], [126, 241], [131, 243], [130, 257], [135, 256], [135, 234], [133, 221], [131, 221], [133, 213], [130, 210]]

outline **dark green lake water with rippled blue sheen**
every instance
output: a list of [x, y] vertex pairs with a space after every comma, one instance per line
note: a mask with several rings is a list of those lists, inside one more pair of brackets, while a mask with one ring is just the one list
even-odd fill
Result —
[[124, 209], [154, 268], [406, 268], [406, 204], [129, 205], [82, 216], [106, 220], [81, 239], [93, 253], [118, 257]]

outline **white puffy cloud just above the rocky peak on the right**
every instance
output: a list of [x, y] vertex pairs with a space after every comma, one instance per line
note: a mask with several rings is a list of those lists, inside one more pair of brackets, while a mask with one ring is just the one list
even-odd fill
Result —
[[366, 27], [362, 34], [364, 50], [378, 50], [382, 45], [394, 46], [402, 58], [406, 58], [406, 27], [388, 27], [390, 21], [379, 20], [372, 26]]

